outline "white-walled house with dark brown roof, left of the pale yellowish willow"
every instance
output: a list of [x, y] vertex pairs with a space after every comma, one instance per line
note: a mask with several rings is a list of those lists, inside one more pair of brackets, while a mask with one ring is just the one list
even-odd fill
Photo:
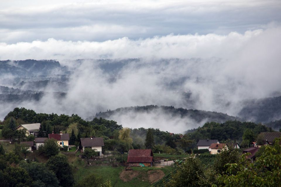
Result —
[[98, 156], [102, 156], [102, 146], [104, 146], [103, 138], [80, 138], [80, 141], [83, 152], [85, 148], [96, 149]]

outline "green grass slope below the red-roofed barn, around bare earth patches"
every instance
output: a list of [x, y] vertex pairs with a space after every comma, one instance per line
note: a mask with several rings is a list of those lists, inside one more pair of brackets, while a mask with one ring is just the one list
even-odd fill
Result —
[[75, 181], [78, 182], [82, 180], [85, 176], [89, 174], [97, 174], [102, 176], [104, 181], [107, 179], [111, 181], [112, 186], [150, 186], [150, 181], [148, 180], [148, 171], [150, 170], [162, 170], [165, 175], [169, 174], [174, 170], [172, 167], [156, 168], [156, 167], [131, 167], [133, 171], [138, 171], [139, 175], [133, 178], [131, 181], [124, 182], [120, 179], [120, 173], [124, 171], [123, 166], [113, 167], [113, 166], [84, 166], [84, 161], [77, 158], [73, 163], [76, 171], [74, 172]]

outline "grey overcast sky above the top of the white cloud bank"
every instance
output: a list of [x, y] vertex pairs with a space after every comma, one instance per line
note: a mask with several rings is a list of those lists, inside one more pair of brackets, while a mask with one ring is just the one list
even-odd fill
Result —
[[0, 42], [131, 40], [169, 34], [219, 35], [281, 20], [280, 0], [0, 1]]

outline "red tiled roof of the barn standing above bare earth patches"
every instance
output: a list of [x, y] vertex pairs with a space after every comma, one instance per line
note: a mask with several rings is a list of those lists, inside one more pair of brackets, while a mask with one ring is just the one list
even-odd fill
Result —
[[128, 153], [128, 163], [146, 163], [153, 161], [151, 149], [130, 149]]

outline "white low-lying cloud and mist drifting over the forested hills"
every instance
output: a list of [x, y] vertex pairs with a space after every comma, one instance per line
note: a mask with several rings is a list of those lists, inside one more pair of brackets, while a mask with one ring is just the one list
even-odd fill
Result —
[[[39, 102], [6, 104], [1, 117], [15, 106], [36, 112], [77, 113], [87, 118], [107, 109], [150, 104], [211, 110], [235, 116], [243, 99], [268, 97], [281, 91], [280, 33], [281, 27], [271, 23], [266, 29], [244, 34], [171, 34], [104, 42], [49, 39], [1, 43], [2, 60], [58, 59], [72, 72], [66, 98], [57, 100], [48, 93]], [[109, 72], [104, 71], [100, 67], [103, 62], [97, 60], [74, 61], [106, 58], [123, 59], [124, 62], [127, 58], [138, 59]], [[0, 80], [1, 85], [5, 84], [4, 78]], [[52, 91], [52, 85], [44, 91]], [[192, 94], [187, 99], [184, 93]], [[119, 117], [119, 123], [128, 127], [144, 124], [143, 127], [161, 129], [164, 120], [169, 123], [165, 123], [163, 130], [174, 125], [180, 132], [195, 127], [191, 120], [169, 120], [169, 116], [163, 118], [157, 113], [137, 118], [130, 116], [133, 115]]]

